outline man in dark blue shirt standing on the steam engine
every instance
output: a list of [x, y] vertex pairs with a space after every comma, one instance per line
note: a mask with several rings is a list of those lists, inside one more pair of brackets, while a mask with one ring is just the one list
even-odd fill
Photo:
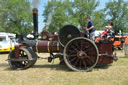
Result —
[[88, 22], [88, 26], [87, 26], [87, 28], [85, 28], [85, 30], [89, 31], [89, 38], [92, 41], [95, 41], [95, 28], [94, 28], [94, 24], [91, 21], [90, 17], [87, 18], [87, 22]]

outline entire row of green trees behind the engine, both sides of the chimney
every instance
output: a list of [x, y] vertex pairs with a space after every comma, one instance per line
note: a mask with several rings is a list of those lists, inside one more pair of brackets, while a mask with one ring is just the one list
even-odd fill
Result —
[[[110, 0], [105, 8], [98, 9], [98, 0], [48, 0], [42, 17], [49, 32], [58, 31], [71, 24], [80, 30], [87, 26], [91, 17], [95, 29], [104, 29], [108, 20], [114, 24], [114, 31], [128, 32], [128, 2]], [[33, 30], [32, 8], [29, 0], [0, 0], [0, 32], [30, 33]], [[43, 27], [42, 27], [43, 28]]]

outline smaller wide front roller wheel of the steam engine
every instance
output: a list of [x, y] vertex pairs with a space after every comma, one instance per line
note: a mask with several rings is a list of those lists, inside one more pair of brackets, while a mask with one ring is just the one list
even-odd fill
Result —
[[20, 55], [17, 59], [15, 57], [15, 50], [10, 52], [8, 56], [8, 63], [12, 69], [27, 69], [32, 67], [37, 60], [37, 55], [27, 47], [20, 48]]

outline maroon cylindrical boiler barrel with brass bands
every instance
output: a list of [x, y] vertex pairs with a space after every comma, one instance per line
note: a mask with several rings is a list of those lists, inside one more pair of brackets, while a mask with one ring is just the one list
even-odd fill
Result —
[[59, 42], [57, 41], [41, 41], [38, 40], [36, 43], [36, 52], [38, 53], [50, 53], [50, 52], [59, 52]]

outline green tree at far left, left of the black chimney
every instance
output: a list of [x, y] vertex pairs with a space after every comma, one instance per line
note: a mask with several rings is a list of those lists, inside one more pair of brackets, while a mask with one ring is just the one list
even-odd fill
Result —
[[2, 31], [13, 33], [29, 33], [32, 31], [32, 12], [28, 0], [3, 0], [1, 14]]

